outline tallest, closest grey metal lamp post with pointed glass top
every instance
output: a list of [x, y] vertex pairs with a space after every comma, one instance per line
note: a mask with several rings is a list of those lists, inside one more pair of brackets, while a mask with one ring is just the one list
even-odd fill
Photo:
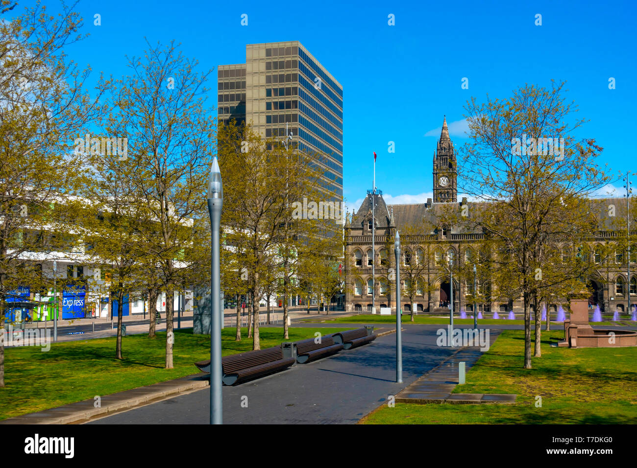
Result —
[[210, 214], [211, 259], [210, 259], [210, 424], [222, 423], [221, 381], [221, 316], [220, 316], [220, 266], [219, 227], [221, 207], [224, 204], [224, 188], [217, 157], [212, 160], [208, 180], [208, 213]]

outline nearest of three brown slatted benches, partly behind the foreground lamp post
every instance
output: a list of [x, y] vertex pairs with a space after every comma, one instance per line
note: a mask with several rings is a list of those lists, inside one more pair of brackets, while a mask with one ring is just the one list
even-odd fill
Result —
[[[283, 350], [280, 346], [233, 354], [221, 359], [222, 379], [225, 385], [234, 385], [273, 372], [283, 371], [292, 364], [294, 364], [294, 357], [283, 357]], [[210, 373], [210, 359], [196, 362], [195, 365], [202, 372]]]

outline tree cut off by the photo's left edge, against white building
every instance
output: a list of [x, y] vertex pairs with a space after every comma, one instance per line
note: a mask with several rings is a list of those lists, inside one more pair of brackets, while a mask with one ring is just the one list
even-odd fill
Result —
[[[3, 1], [1, 13], [14, 6]], [[63, 4], [57, 17], [38, 2], [0, 20], [0, 329], [10, 290], [26, 281], [36, 290], [47, 287], [38, 264], [24, 260], [27, 253], [51, 259], [51, 252], [75, 243], [65, 230], [61, 197], [73, 192], [83, 161], [69, 152], [67, 139], [84, 134], [101, 110], [83, 88], [89, 71], [78, 71], [63, 52], [82, 39], [80, 27], [82, 18]]]

